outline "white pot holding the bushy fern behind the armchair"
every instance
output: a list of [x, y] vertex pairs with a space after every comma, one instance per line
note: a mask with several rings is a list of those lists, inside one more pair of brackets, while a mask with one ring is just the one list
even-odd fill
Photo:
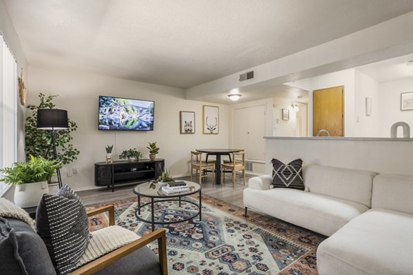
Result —
[[21, 208], [34, 207], [47, 192], [49, 192], [47, 181], [20, 184], [14, 188], [14, 203]]

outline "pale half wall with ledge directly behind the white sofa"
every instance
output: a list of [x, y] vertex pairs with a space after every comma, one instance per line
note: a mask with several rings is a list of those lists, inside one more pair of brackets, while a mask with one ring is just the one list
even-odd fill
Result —
[[413, 175], [410, 141], [352, 140], [346, 138], [285, 137], [266, 139], [266, 173], [273, 157], [288, 163], [303, 159], [303, 165], [325, 165], [377, 173]]

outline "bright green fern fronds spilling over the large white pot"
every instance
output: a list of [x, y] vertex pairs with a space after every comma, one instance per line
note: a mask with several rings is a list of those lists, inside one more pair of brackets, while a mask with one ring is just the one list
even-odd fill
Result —
[[28, 162], [15, 162], [12, 167], [0, 169], [4, 174], [0, 181], [11, 185], [47, 181], [55, 175], [56, 168], [59, 167], [60, 163], [55, 159], [48, 160], [30, 155]]

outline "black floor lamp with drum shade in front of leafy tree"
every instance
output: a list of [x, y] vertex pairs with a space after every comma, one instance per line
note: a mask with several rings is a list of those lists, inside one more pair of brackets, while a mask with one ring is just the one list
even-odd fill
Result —
[[[50, 130], [52, 136], [53, 155], [54, 159], [57, 159], [56, 144], [54, 142], [54, 131], [69, 128], [69, 122], [67, 121], [67, 111], [60, 109], [39, 109], [37, 110], [37, 129]], [[48, 150], [47, 150], [48, 151]], [[47, 153], [46, 153], [47, 155]], [[59, 182], [59, 188], [62, 187], [62, 177], [60, 168], [56, 169], [57, 181]]]

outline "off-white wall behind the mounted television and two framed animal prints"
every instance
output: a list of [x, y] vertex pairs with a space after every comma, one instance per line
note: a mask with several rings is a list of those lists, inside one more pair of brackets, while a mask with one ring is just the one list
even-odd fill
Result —
[[[148, 158], [148, 142], [158, 142], [158, 157], [165, 158], [165, 166], [173, 176], [189, 174], [189, 151], [196, 148], [223, 148], [229, 146], [229, 106], [220, 107], [220, 133], [202, 134], [202, 104], [184, 99], [182, 89], [138, 83], [129, 80], [59, 72], [53, 69], [29, 68], [28, 89], [30, 104], [38, 104], [39, 92], [59, 94], [54, 102], [59, 109], [66, 109], [78, 130], [73, 144], [81, 151], [77, 161], [62, 169], [63, 182], [76, 190], [94, 186], [94, 162], [105, 160], [105, 146], [114, 144], [118, 155], [127, 148], [137, 148]], [[154, 131], [123, 132], [98, 131], [98, 96], [120, 96], [155, 101]], [[195, 111], [195, 134], [181, 135], [179, 111]], [[77, 168], [78, 174], [67, 177], [66, 170]]]

